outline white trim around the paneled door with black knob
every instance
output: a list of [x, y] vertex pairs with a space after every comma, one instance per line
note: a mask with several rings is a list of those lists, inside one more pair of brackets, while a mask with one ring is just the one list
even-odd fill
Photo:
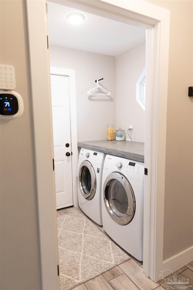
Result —
[[50, 74], [69, 77], [70, 95], [70, 125], [71, 125], [71, 149], [72, 149], [72, 191], [73, 205], [78, 206], [77, 171], [78, 171], [78, 148], [77, 148], [77, 118], [76, 118], [76, 76], [75, 69], [50, 67]]

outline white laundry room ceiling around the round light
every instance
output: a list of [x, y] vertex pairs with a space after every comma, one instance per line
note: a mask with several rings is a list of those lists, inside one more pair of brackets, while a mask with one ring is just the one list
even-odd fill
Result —
[[[74, 8], [47, 2], [49, 43], [94, 53], [117, 56], [145, 41], [145, 29]], [[81, 24], [71, 24], [66, 15], [84, 14]]]

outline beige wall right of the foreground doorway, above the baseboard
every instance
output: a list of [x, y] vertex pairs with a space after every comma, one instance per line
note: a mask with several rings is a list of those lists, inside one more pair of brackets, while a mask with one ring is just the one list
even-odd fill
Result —
[[193, 2], [148, 1], [170, 10], [163, 259], [193, 245]]

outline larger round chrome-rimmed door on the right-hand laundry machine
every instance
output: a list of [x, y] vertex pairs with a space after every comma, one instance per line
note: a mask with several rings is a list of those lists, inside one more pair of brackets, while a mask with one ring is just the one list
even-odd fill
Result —
[[135, 196], [131, 184], [124, 175], [113, 172], [107, 176], [103, 198], [109, 216], [117, 224], [131, 222], [135, 214]]

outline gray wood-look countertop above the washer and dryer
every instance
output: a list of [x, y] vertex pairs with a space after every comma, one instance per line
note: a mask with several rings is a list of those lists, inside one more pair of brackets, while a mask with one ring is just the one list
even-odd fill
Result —
[[131, 141], [86, 141], [78, 142], [78, 147], [106, 154], [144, 162], [144, 143]]

